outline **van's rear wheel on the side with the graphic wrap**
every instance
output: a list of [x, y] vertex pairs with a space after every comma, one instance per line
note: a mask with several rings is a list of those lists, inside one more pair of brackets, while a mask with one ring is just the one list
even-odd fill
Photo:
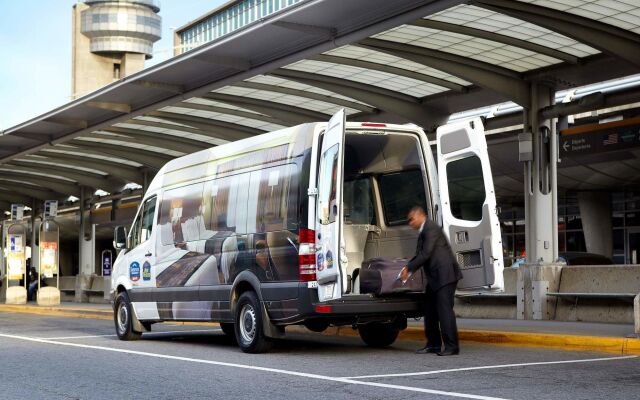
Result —
[[273, 345], [264, 335], [262, 308], [254, 292], [240, 295], [235, 307], [234, 328], [238, 346], [245, 353], [264, 353]]

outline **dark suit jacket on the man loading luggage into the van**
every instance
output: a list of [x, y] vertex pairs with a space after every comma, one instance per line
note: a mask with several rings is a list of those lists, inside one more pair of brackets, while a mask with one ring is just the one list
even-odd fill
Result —
[[462, 279], [449, 241], [438, 224], [430, 220], [425, 221], [418, 235], [416, 255], [407, 263], [407, 268], [411, 272], [423, 268], [427, 284], [434, 291]]

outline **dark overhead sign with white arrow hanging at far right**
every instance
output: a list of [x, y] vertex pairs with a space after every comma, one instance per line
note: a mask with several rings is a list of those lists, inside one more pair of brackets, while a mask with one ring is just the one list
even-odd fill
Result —
[[640, 118], [565, 129], [560, 155], [578, 156], [640, 146]]

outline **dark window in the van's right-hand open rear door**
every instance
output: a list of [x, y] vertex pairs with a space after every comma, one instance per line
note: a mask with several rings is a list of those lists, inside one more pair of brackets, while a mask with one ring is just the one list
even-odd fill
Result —
[[482, 164], [478, 156], [466, 157], [447, 164], [447, 186], [451, 213], [458, 219], [482, 220], [486, 198]]

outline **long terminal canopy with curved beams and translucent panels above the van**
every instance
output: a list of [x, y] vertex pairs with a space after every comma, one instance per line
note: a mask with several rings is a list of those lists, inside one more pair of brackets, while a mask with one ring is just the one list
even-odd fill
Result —
[[[174, 157], [326, 121], [340, 108], [349, 120], [432, 132], [454, 113], [512, 102], [487, 126], [513, 127], [531, 107], [532, 83], [559, 91], [639, 68], [640, 3], [632, 0], [302, 1], [2, 132], [0, 209], [79, 197], [81, 187], [116, 193]], [[640, 97], [637, 89], [568, 93], [541, 112]], [[515, 143], [514, 131], [504, 143]], [[492, 152], [504, 175], [499, 194], [522, 191], [510, 151]], [[597, 187], [625, 174], [637, 181], [640, 157], [632, 159], [619, 171], [566, 164], [573, 170], [560, 185]]]

